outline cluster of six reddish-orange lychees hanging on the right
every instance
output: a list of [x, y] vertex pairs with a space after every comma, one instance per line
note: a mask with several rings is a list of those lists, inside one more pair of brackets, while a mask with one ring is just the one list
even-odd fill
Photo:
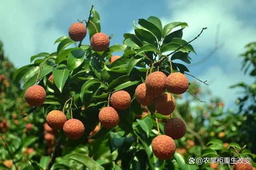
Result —
[[[137, 86], [135, 96], [142, 106], [154, 103], [157, 113], [170, 115], [176, 108], [176, 100], [172, 94], [183, 94], [188, 86], [188, 79], [180, 72], [166, 76], [163, 72], [156, 71], [146, 77], [145, 83]], [[186, 124], [180, 118], [171, 118], [164, 125], [164, 133], [165, 135], [158, 135], [152, 141], [154, 155], [162, 160], [172, 158], [176, 151], [174, 140], [185, 135]]]

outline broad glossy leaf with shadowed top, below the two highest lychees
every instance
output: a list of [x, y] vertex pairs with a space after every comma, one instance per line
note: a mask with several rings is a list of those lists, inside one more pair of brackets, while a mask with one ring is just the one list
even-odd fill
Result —
[[78, 68], [84, 61], [84, 50], [78, 49], [68, 54], [68, 69], [74, 70]]

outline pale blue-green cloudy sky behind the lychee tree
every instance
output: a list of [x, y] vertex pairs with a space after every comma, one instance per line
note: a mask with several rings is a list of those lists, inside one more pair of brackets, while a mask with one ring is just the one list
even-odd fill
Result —
[[[191, 43], [197, 55], [190, 55], [193, 61], [187, 67], [190, 74], [208, 81], [209, 86], [201, 84], [203, 90], [210, 89], [213, 96], [222, 98], [226, 108], [234, 107], [239, 90], [228, 86], [254, 81], [241, 72], [238, 56], [244, 52], [244, 45], [256, 41], [255, 0], [0, 0], [0, 4], [0, 40], [17, 68], [29, 64], [32, 55], [56, 51], [54, 41], [68, 35], [69, 26], [78, 19], [87, 20], [93, 4], [100, 14], [101, 31], [114, 34], [110, 45], [122, 44], [123, 34], [133, 32], [133, 21], [149, 16], [160, 18], [163, 26], [174, 21], [188, 23], [182, 37], [186, 41], [207, 27]], [[214, 49], [217, 30], [218, 45], [222, 47], [205, 62], [196, 64]], [[89, 44], [88, 37], [83, 44]]]

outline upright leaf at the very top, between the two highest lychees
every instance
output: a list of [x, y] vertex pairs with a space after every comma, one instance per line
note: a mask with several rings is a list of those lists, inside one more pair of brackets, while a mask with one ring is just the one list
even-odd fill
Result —
[[[100, 16], [98, 12], [94, 9], [92, 9], [92, 16], [90, 17], [90, 21], [94, 23], [92, 24], [91, 22], [89, 22], [87, 27], [91, 39], [92, 35], [97, 33], [97, 31], [98, 33], [100, 33]], [[96, 28], [94, 27], [94, 25], [96, 26]]]

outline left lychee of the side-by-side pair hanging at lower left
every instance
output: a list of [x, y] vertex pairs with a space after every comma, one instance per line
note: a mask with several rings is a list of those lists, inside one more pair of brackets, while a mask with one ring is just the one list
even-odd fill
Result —
[[62, 129], [64, 123], [67, 121], [66, 115], [59, 110], [53, 110], [46, 116], [47, 124], [54, 130]]

